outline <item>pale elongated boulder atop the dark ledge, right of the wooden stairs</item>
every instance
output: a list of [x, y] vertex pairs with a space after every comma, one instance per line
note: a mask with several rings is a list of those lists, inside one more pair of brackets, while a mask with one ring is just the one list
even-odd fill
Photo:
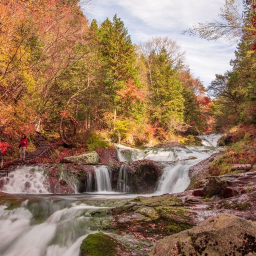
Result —
[[100, 162], [99, 155], [96, 151], [91, 151], [89, 153], [81, 155], [67, 156], [60, 160], [60, 162], [65, 163], [75, 163], [75, 164], [98, 164]]

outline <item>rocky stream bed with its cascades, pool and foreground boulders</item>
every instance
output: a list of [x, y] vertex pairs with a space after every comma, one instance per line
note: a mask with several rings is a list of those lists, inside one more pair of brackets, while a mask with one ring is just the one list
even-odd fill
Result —
[[217, 151], [121, 148], [17, 169], [0, 179], [0, 255], [256, 255], [256, 169], [212, 176]]

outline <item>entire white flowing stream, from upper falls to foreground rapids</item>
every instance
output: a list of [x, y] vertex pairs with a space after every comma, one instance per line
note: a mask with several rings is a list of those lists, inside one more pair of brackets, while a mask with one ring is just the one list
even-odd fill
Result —
[[[118, 157], [125, 162], [161, 162], [164, 168], [153, 194], [180, 192], [189, 185], [189, 167], [219, 150], [216, 144], [220, 134], [199, 137], [203, 146], [140, 150], [117, 145]], [[109, 216], [95, 212], [138, 195], [129, 193], [130, 175], [126, 168], [123, 164], [119, 170], [117, 191], [112, 190], [111, 172], [100, 165], [93, 167], [94, 175], [88, 175], [85, 193], [72, 195], [50, 194], [43, 169], [38, 166], [23, 166], [1, 178], [0, 190], [19, 194], [21, 199], [0, 205], [0, 255], [78, 256], [86, 235], [102, 230], [111, 221]]]

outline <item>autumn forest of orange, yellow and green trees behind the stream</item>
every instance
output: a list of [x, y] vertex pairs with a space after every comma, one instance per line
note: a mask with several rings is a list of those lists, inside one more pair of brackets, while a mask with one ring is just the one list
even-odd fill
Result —
[[[89, 22], [81, 10], [89, 4], [0, 0], [3, 136], [37, 130], [69, 146], [91, 137], [144, 145], [256, 121], [253, 1], [244, 1], [240, 18], [234, 1], [226, 0], [222, 16], [233, 27], [226, 33], [223, 26], [216, 37], [233, 31], [241, 39], [232, 70], [216, 75], [208, 96], [173, 38], [135, 45], [117, 15]], [[208, 29], [214, 25], [188, 30], [212, 39]]]

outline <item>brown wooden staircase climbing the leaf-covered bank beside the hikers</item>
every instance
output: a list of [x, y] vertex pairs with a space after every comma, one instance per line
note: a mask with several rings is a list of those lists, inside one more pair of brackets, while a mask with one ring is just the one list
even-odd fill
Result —
[[15, 159], [8, 164], [4, 165], [0, 169], [0, 177], [1, 176], [8, 176], [8, 172], [20, 165], [23, 164], [32, 164], [35, 163], [36, 159], [46, 157], [52, 162], [55, 161], [54, 155], [52, 152], [54, 152], [54, 149], [51, 145], [49, 145], [45, 139], [40, 135], [39, 132], [36, 132], [36, 135], [33, 137], [34, 144], [36, 146], [36, 150], [29, 153], [24, 160], [21, 159]]

